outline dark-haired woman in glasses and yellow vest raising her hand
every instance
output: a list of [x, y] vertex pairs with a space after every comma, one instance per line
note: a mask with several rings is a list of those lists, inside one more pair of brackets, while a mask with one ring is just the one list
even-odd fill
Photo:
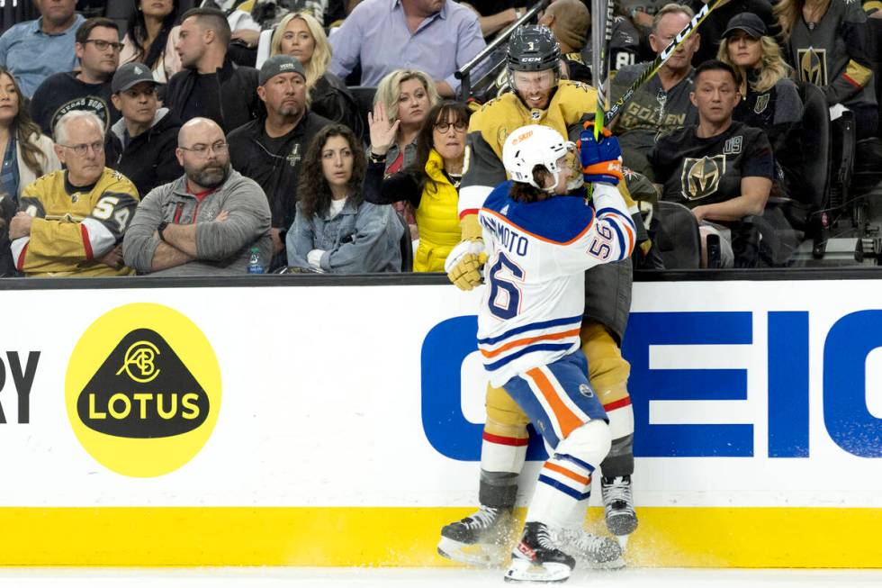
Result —
[[419, 228], [413, 271], [443, 272], [447, 254], [461, 240], [458, 188], [470, 112], [465, 104], [449, 100], [434, 106], [417, 136], [413, 165], [383, 179], [386, 152], [395, 141], [399, 125], [398, 121], [390, 124], [384, 110], [383, 104], [376, 104], [374, 113], [368, 114], [371, 150], [365, 200], [374, 204], [410, 202]]

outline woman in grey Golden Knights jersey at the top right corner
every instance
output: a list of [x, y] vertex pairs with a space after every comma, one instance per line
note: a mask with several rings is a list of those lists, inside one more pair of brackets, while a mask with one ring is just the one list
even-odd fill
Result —
[[827, 104], [854, 113], [858, 139], [876, 134], [879, 114], [869, 61], [869, 26], [850, 0], [781, 0], [774, 9], [797, 77], [821, 87]]

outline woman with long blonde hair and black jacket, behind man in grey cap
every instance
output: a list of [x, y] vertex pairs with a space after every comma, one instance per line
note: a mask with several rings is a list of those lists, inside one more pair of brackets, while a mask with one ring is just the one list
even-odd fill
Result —
[[346, 84], [328, 71], [330, 44], [315, 16], [309, 13], [288, 14], [276, 27], [270, 43], [270, 56], [290, 55], [306, 71], [308, 102], [313, 113], [346, 124], [362, 134], [358, 105]]

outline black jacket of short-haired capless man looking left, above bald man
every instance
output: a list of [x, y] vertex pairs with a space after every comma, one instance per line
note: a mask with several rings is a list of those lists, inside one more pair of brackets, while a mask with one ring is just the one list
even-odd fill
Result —
[[[211, 86], [214, 95], [206, 95], [205, 86]], [[197, 87], [201, 91], [194, 92]], [[164, 98], [166, 106], [183, 122], [204, 116], [220, 124], [224, 132], [264, 113], [264, 103], [257, 97], [257, 69], [238, 66], [229, 56], [216, 74], [198, 74], [193, 69], [177, 72], [168, 80]]]

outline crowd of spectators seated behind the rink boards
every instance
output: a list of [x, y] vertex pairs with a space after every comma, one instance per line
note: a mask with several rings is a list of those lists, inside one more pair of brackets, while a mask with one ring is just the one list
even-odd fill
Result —
[[[703, 1], [616, 3], [613, 100]], [[245, 273], [252, 248], [266, 271], [409, 271], [410, 248], [441, 271], [476, 108], [454, 74], [526, 5], [132, 0], [114, 20], [33, 2], [0, 36], [0, 276]], [[539, 16], [585, 83], [589, 8]], [[632, 192], [687, 206], [739, 265], [738, 222], [805, 165], [802, 86], [878, 138], [869, 19], [876, 0], [721, 5], [614, 122]]]

